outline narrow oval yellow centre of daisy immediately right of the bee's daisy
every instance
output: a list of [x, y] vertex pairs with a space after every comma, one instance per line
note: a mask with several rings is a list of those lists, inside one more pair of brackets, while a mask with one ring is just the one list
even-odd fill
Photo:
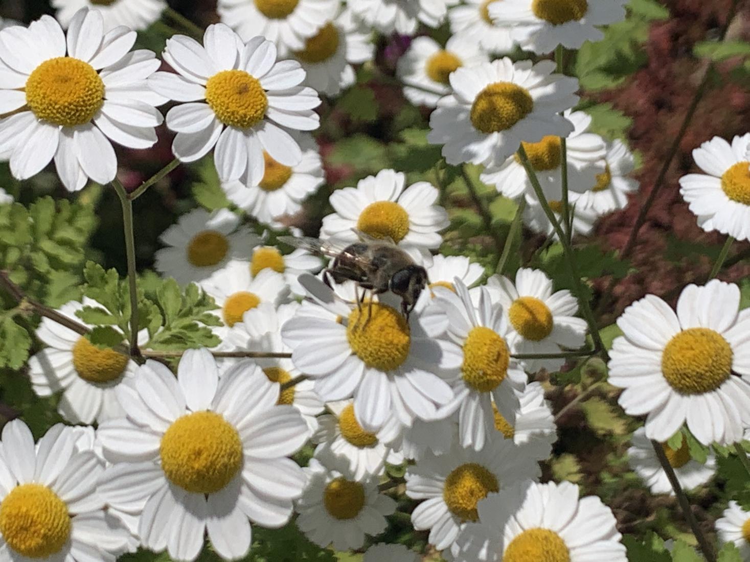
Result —
[[479, 392], [494, 390], [508, 374], [509, 360], [505, 339], [488, 327], [473, 327], [463, 342], [463, 380]]

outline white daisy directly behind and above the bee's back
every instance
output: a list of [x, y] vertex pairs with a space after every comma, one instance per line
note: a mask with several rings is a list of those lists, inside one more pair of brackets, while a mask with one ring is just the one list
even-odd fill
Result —
[[336, 190], [331, 206], [336, 211], [323, 217], [321, 238], [359, 241], [352, 229], [373, 238], [391, 238], [413, 256], [429, 259], [429, 250], [443, 242], [439, 232], [449, 226], [448, 214], [435, 205], [440, 195], [427, 181], [406, 189], [406, 175], [385, 169], [357, 182], [357, 187]]

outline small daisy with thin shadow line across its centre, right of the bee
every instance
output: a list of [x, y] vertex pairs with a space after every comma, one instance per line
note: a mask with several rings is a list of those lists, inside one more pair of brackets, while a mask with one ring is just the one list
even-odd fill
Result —
[[[513, 353], [559, 353], [586, 343], [586, 321], [574, 316], [577, 300], [567, 289], [553, 292], [552, 280], [544, 271], [520, 268], [515, 285], [507, 277], [493, 275], [487, 280], [487, 291], [502, 306], [511, 328], [508, 345]], [[524, 359], [521, 364], [529, 372], [555, 372], [565, 360]]]

